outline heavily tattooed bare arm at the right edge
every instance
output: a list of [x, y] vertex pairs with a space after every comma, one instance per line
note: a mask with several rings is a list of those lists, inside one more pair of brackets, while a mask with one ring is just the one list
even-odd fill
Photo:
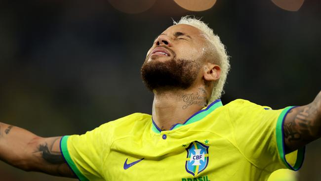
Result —
[[310, 104], [289, 111], [283, 132], [286, 153], [321, 137], [321, 91]]

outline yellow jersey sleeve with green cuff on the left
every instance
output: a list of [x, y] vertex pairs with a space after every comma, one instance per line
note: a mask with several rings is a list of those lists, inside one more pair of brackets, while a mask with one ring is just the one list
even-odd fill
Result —
[[106, 123], [83, 135], [62, 137], [61, 153], [80, 181], [105, 181], [102, 168], [112, 142], [110, 127]]

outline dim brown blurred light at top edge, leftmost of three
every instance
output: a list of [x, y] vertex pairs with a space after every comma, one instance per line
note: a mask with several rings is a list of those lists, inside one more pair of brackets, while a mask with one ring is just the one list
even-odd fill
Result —
[[151, 8], [156, 0], [108, 0], [117, 10], [129, 14], [141, 13]]

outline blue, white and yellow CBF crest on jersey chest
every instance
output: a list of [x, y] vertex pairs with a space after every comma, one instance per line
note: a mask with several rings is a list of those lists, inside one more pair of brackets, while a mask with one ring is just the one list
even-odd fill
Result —
[[208, 164], [208, 147], [199, 141], [193, 141], [186, 148], [187, 158], [185, 169], [194, 177], [203, 171]]

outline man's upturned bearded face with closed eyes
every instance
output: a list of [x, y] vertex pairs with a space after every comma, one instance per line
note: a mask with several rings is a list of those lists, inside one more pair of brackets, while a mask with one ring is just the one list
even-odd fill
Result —
[[188, 89], [204, 63], [206, 40], [190, 25], [179, 24], [161, 33], [147, 52], [142, 79], [150, 90]]

